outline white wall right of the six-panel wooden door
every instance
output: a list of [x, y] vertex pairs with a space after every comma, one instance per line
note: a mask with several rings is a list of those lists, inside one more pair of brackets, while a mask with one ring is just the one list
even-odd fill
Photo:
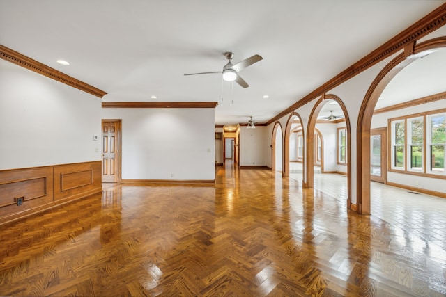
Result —
[[215, 109], [102, 109], [102, 118], [122, 120], [122, 179], [215, 179]]

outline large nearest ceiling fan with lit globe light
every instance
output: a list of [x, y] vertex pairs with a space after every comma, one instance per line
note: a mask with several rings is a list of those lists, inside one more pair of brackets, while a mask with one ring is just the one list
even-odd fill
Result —
[[240, 74], [238, 72], [244, 70], [249, 65], [252, 65], [254, 63], [257, 63], [263, 59], [259, 55], [254, 55], [252, 57], [249, 57], [243, 61], [238, 62], [236, 65], [233, 65], [231, 63], [231, 60], [234, 56], [232, 52], [224, 53], [224, 56], [228, 59], [228, 63], [224, 65], [223, 71], [213, 71], [213, 72], [199, 72], [199, 73], [190, 73], [190, 74], [184, 74], [184, 75], [197, 75], [197, 74], [214, 74], [214, 73], [222, 73], [223, 79], [225, 81], [236, 81], [242, 88], [247, 88], [249, 85], [247, 82], [240, 77]]

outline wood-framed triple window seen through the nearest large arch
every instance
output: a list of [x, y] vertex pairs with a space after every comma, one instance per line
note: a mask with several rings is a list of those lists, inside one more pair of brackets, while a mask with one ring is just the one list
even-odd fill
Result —
[[390, 170], [446, 176], [446, 110], [390, 119]]

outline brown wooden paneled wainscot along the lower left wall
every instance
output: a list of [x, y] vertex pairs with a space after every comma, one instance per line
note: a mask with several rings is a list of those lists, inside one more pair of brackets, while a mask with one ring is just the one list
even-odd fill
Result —
[[101, 161], [1, 170], [0, 224], [101, 191]]

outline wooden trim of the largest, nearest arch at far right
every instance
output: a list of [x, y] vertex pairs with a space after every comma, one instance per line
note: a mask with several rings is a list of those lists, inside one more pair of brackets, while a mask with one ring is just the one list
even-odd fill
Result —
[[[446, 36], [415, 45], [410, 55], [399, 54], [376, 76], [362, 100], [357, 119], [357, 212], [370, 214], [370, 126], [378, 98], [387, 84], [407, 65], [422, 57], [424, 51], [446, 48]], [[360, 165], [359, 165], [360, 164]]]

